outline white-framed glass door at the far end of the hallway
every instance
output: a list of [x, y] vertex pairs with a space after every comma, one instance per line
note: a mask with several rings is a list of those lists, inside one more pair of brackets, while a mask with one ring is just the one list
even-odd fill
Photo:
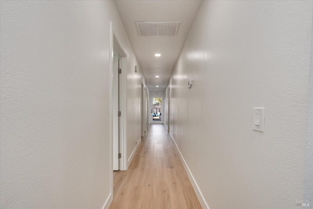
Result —
[[151, 124], [163, 124], [164, 123], [164, 97], [163, 96], [151, 96], [150, 101], [150, 117]]

